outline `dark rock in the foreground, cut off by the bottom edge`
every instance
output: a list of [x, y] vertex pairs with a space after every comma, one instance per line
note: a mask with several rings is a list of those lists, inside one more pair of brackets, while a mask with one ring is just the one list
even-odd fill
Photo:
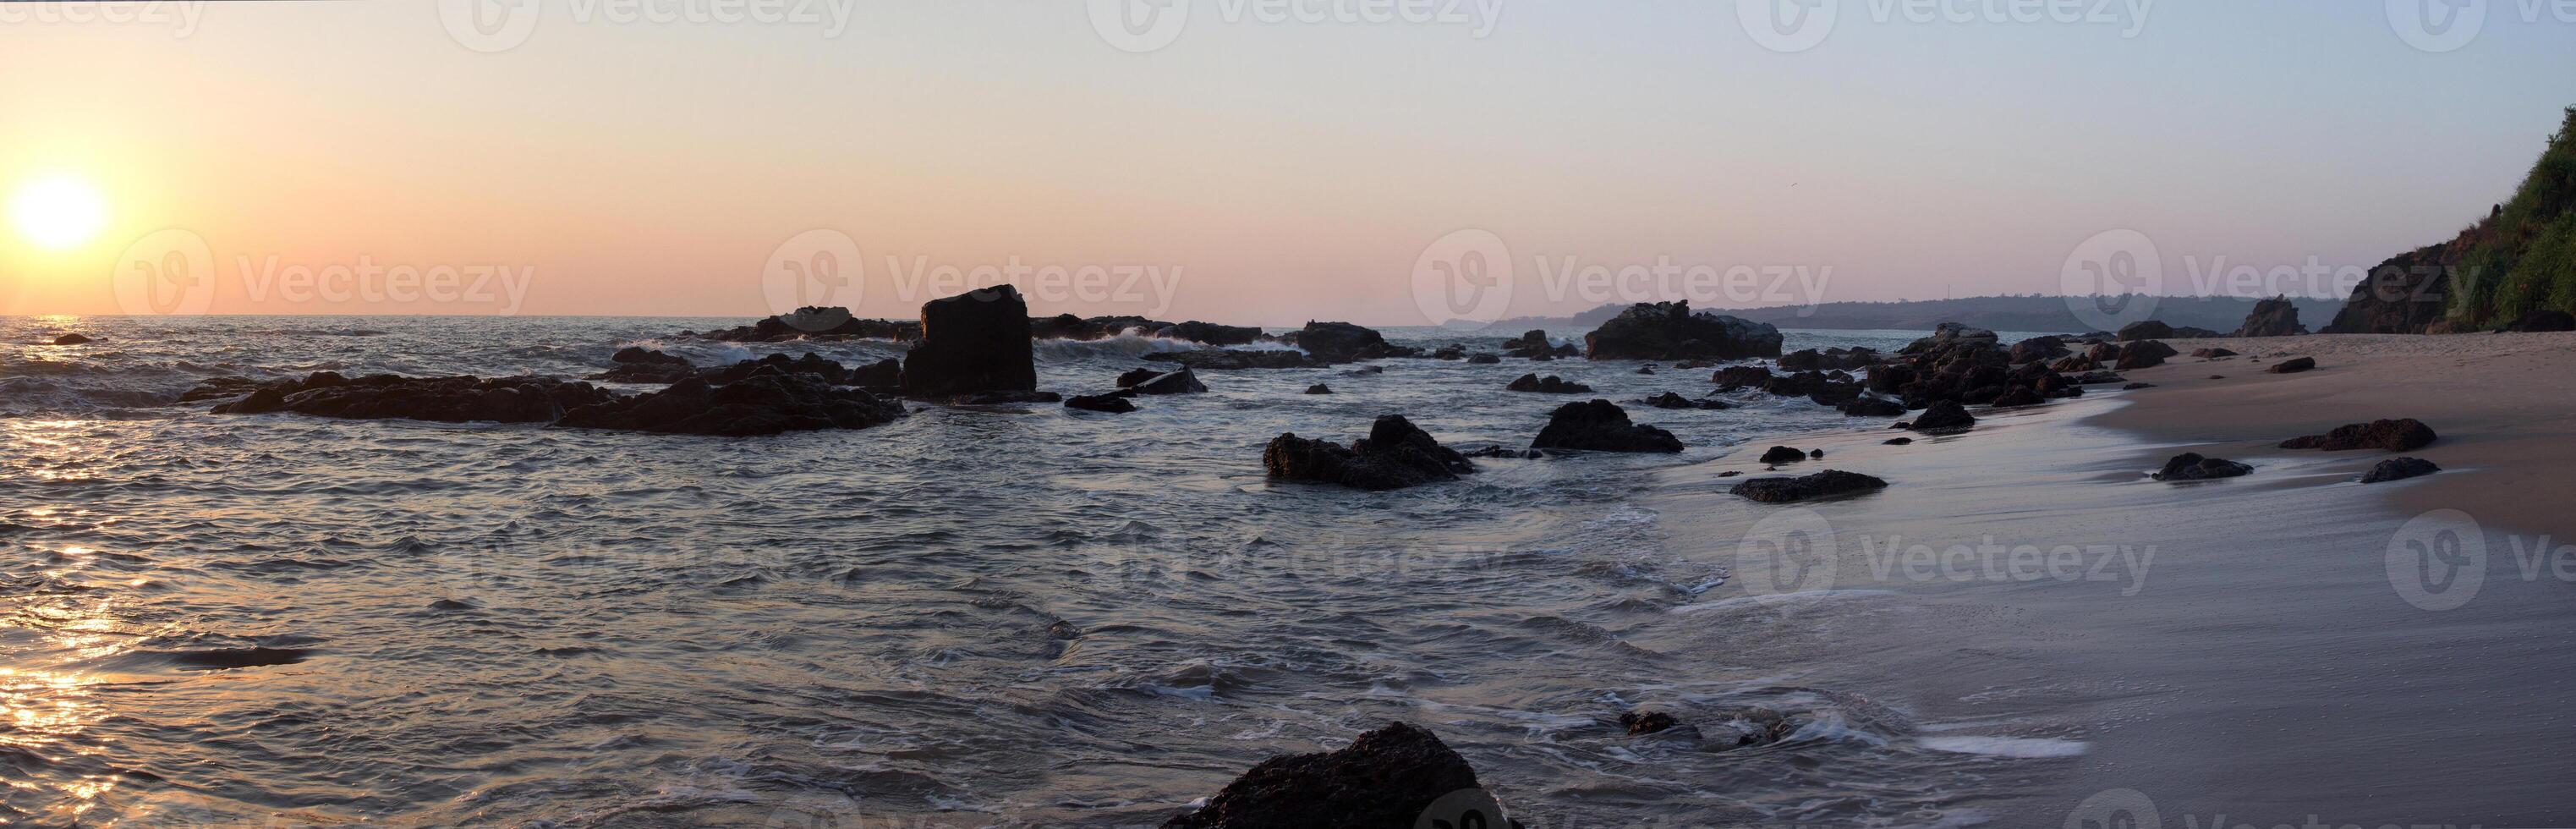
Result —
[[[1285, 754], [1234, 778], [1198, 811], [1164, 829], [1412, 829], [1448, 793], [1481, 788], [1476, 770], [1440, 736], [1406, 723], [1360, 734], [1350, 747]], [[1492, 816], [1489, 829], [1507, 829]], [[1466, 829], [1466, 826], [1455, 826]]]

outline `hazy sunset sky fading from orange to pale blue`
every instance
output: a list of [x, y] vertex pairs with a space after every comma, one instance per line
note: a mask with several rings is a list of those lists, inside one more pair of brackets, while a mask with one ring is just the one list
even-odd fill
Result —
[[[814, 229], [858, 250], [868, 317], [930, 299], [914, 263], [1025, 263], [1108, 273], [1038, 312], [1425, 324], [1414, 268], [1461, 229], [1510, 250], [1510, 314], [1597, 304], [1543, 281], [1566, 257], [1826, 273], [1788, 301], [2058, 293], [2112, 229], [2192, 293], [2218, 257], [2367, 268], [2447, 239], [2576, 103], [2576, 21], [2517, 3], [2452, 51], [2339, 0], [2154, 3], [2143, 26], [1855, 0], [1806, 51], [1736, 3], [1267, 23], [1206, 0], [1149, 51], [1069, 0], [845, 26], [827, 0], [698, 23], [549, 0], [500, 49], [451, 33], [464, 3], [8, 8], [0, 314], [149, 312], [116, 278], [160, 229], [185, 234], [155, 263], [204, 239], [214, 314], [760, 317]], [[82, 191], [93, 232], [59, 216]], [[461, 283], [278, 281], [358, 263]]]

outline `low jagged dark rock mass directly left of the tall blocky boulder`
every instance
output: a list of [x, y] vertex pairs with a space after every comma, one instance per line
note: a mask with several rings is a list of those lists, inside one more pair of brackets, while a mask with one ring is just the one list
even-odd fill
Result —
[[866, 430], [902, 420], [904, 404], [866, 389], [842, 389], [811, 373], [760, 371], [724, 386], [685, 378], [654, 394], [587, 404], [556, 422], [577, 430], [665, 435], [778, 435], [799, 430]]

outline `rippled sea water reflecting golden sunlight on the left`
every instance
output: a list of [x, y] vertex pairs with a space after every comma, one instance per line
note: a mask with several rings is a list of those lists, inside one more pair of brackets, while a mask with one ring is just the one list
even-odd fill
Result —
[[[1391, 718], [1538, 819], [1932, 824], [2014, 775], [1891, 741], [1906, 711], [1687, 610], [1734, 541], [1667, 538], [1654, 476], [1842, 427], [1829, 409], [1631, 404], [1692, 448], [1388, 494], [1260, 469], [1278, 433], [1386, 412], [1522, 445], [1566, 402], [1502, 391], [1533, 368], [1620, 402], [1705, 394], [1705, 371], [1206, 373], [1213, 394], [1121, 417], [927, 407], [752, 440], [173, 404], [227, 373], [585, 376], [636, 342], [899, 355], [662, 340], [737, 322], [0, 319], [0, 819], [1157, 824]], [[100, 340], [39, 345], [67, 330]], [[1041, 386], [1103, 391], [1149, 348], [1172, 345], [1041, 342]], [[1628, 739], [1610, 718], [1636, 703], [1795, 734]]]

